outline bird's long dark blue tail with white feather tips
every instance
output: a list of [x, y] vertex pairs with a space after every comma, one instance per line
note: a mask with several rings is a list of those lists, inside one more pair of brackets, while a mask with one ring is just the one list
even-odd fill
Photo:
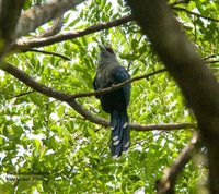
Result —
[[111, 113], [111, 153], [113, 157], [119, 157], [130, 145], [130, 128], [126, 111], [113, 111]]

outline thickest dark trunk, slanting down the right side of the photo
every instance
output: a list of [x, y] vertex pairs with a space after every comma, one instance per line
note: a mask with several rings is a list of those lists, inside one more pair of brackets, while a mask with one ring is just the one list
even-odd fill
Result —
[[219, 193], [219, 84], [164, 0], [129, 0], [128, 3], [194, 110], [201, 141], [208, 148], [210, 192]]

